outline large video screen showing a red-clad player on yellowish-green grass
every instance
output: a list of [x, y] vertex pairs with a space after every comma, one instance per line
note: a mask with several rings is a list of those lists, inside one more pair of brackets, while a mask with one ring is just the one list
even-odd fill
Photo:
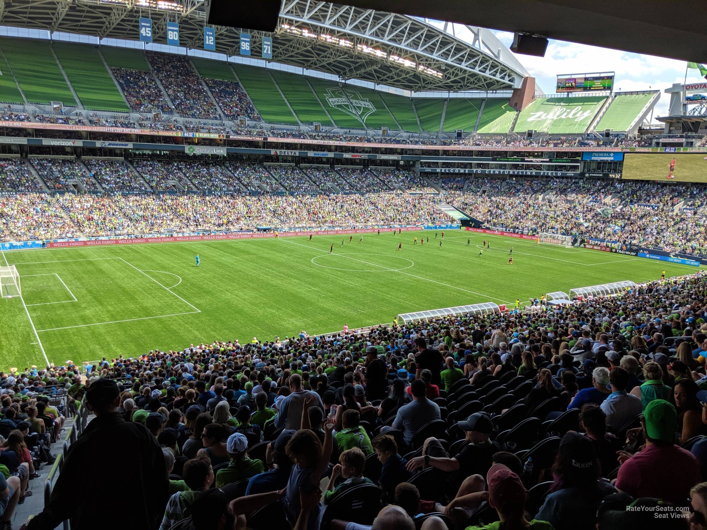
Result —
[[707, 182], [707, 153], [625, 153], [623, 178]]

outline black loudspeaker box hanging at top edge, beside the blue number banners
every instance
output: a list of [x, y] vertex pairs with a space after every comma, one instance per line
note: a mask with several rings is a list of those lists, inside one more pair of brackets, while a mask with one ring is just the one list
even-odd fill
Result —
[[229, 28], [273, 32], [280, 16], [279, 0], [234, 2], [232, 0], [206, 0], [206, 23], [226, 25]]

